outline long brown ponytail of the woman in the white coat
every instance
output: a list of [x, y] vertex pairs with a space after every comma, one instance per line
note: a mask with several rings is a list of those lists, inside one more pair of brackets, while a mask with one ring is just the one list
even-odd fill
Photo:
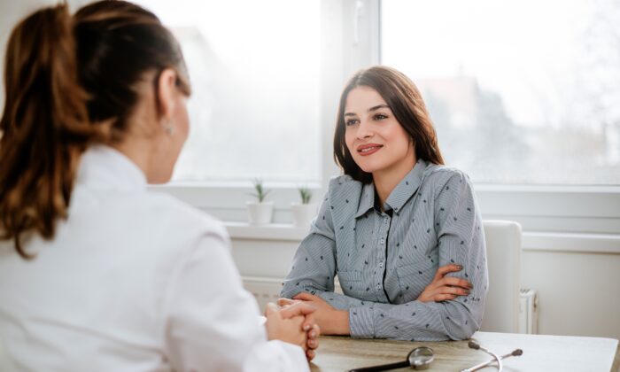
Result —
[[97, 130], [78, 83], [72, 19], [66, 4], [22, 20], [6, 50], [0, 120], [0, 238], [32, 258], [20, 238], [54, 235], [66, 217], [81, 151]]

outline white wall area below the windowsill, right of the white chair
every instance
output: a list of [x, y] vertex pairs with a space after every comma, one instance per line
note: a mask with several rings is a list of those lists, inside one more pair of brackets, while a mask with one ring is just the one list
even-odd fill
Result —
[[522, 288], [539, 291], [539, 333], [620, 339], [620, 254], [524, 251]]

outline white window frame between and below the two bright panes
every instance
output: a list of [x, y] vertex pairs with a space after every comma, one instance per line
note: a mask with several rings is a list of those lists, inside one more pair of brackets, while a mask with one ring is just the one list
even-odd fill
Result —
[[[348, 76], [355, 71], [379, 63], [380, 20], [380, 0], [322, 0], [324, 57], [319, 115], [323, 123], [320, 150], [322, 181], [310, 187], [315, 202], [322, 201], [329, 178], [339, 174], [334, 164], [331, 143], [340, 90]], [[297, 185], [270, 185], [267, 182], [266, 186], [272, 189], [270, 198], [275, 202], [274, 221], [288, 223], [291, 221], [290, 204], [298, 202]], [[548, 246], [554, 245], [562, 250], [567, 236], [570, 238], [573, 235], [578, 236], [580, 242], [590, 245], [587, 252], [596, 251], [597, 247], [601, 252], [608, 252], [609, 244], [620, 244], [620, 185], [475, 183], [474, 188], [485, 220], [517, 221], [523, 226], [524, 236], [534, 236], [524, 240], [526, 249], [527, 245], [539, 249], [536, 247], [544, 241]], [[174, 195], [221, 220], [236, 222], [246, 221], [245, 201], [251, 200], [248, 194], [252, 191], [249, 181], [247, 184], [174, 182], [151, 189]], [[604, 237], [603, 243], [601, 236]], [[620, 252], [620, 249], [616, 251]]]

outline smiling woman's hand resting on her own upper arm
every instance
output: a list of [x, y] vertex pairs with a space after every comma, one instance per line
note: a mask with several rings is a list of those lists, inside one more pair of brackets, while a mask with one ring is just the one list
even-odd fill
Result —
[[417, 299], [422, 302], [439, 302], [454, 299], [458, 296], [469, 295], [469, 290], [472, 288], [471, 283], [461, 278], [446, 277], [446, 274], [461, 271], [462, 269], [461, 265], [439, 267], [432, 283], [426, 286]]

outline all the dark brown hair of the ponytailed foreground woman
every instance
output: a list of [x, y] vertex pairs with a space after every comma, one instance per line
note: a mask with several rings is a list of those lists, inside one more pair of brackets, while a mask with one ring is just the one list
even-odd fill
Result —
[[0, 238], [31, 258], [20, 237], [54, 236], [81, 153], [122, 139], [144, 74], [173, 68], [187, 95], [190, 83], [174, 36], [124, 1], [89, 4], [74, 17], [66, 4], [34, 12], [12, 30], [5, 58]]

